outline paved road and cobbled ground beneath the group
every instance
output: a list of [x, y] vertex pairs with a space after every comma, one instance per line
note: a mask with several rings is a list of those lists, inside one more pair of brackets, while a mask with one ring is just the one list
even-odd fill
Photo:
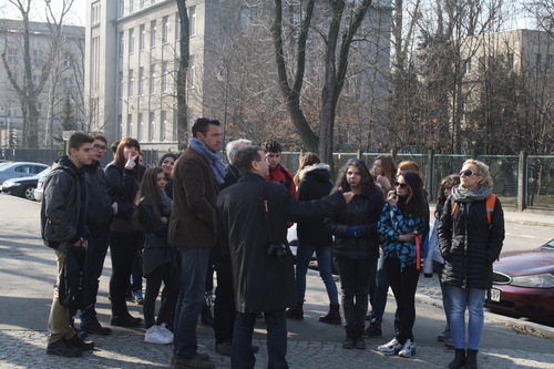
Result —
[[[55, 280], [53, 252], [40, 240], [39, 208], [35, 203], [0, 195], [0, 368], [158, 368], [167, 367], [171, 346], [144, 344], [144, 328], [124, 329], [114, 327], [106, 337], [91, 336], [96, 344], [93, 352], [80, 359], [47, 356], [47, 320]], [[507, 218], [507, 217], [506, 217]], [[552, 217], [554, 219], [554, 217]], [[530, 224], [531, 218], [520, 215], [513, 222]], [[540, 218], [548, 225], [550, 218]], [[546, 222], [547, 221], [547, 222]], [[552, 222], [554, 225], [554, 222]], [[106, 259], [101, 279], [99, 314], [102, 324], [110, 320], [107, 277], [110, 260]], [[291, 368], [445, 368], [452, 359], [451, 350], [435, 340], [444, 326], [444, 314], [439, 306], [440, 291], [437, 278], [421, 278], [418, 289], [418, 318], [416, 342], [418, 353], [412, 359], [384, 357], [377, 346], [392, 338], [392, 314], [394, 299], [389, 298], [384, 315], [383, 337], [367, 340], [367, 350], [345, 350], [340, 342], [343, 329], [317, 320], [327, 310], [327, 296], [322, 283], [316, 275], [308, 276], [306, 318], [288, 321], [288, 361]], [[141, 307], [130, 305], [133, 315]], [[513, 325], [523, 327], [514, 330]], [[554, 329], [527, 324], [522, 320], [486, 315], [485, 332], [479, 356], [480, 368], [554, 368], [554, 342], [521, 329], [535, 329], [554, 337]], [[229, 360], [216, 353], [213, 331], [198, 326], [199, 345], [208, 352], [218, 368], [228, 368]], [[257, 355], [256, 368], [267, 366], [265, 326], [256, 325], [255, 339], [261, 350]]]

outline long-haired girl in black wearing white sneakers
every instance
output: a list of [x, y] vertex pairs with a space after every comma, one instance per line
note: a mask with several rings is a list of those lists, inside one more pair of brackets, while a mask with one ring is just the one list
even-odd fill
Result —
[[[143, 268], [146, 278], [144, 297], [145, 342], [167, 345], [173, 334], [167, 329], [178, 295], [176, 249], [167, 242], [167, 225], [173, 203], [166, 195], [164, 171], [156, 166], [146, 170], [136, 195], [134, 222], [144, 232]], [[157, 321], [154, 310], [160, 287], [164, 283]]]

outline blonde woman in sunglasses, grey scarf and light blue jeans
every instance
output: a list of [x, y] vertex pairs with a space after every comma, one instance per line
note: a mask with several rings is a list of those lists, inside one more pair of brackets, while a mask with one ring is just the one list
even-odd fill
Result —
[[[492, 287], [492, 264], [504, 240], [504, 213], [497, 198], [488, 209], [492, 194], [489, 166], [469, 160], [460, 172], [461, 184], [452, 188], [439, 225], [439, 247], [444, 258], [442, 281], [449, 285], [450, 331], [455, 357], [450, 369], [478, 367], [476, 355], [484, 327], [483, 305]], [[490, 222], [488, 213], [490, 215]], [[465, 351], [465, 310], [470, 312]]]

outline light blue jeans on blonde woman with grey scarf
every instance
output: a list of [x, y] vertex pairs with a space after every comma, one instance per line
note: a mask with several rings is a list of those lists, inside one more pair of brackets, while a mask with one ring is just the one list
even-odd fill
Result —
[[454, 341], [454, 348], [465, 348], [465, 309], [470, 311], [470, 322], [468, 327], [468, 348], [479, 350], [479, 342], [484, 327], [484, 299], [486, 289], [449, 286], [452, 312], [450, 315], [450, 332]]

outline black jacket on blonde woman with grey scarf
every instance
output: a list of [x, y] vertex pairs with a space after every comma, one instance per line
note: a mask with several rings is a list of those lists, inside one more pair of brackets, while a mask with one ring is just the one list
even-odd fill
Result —
[[439, 224], [439, 247], [444, 258], [442, 281], [461, 288], [492, 287], [492, 264], [504, 240], [504, 213], [496, 198], [491, 227], [485, 201], [458, 203], [452, 216], [452, 196], [447, 199]]

